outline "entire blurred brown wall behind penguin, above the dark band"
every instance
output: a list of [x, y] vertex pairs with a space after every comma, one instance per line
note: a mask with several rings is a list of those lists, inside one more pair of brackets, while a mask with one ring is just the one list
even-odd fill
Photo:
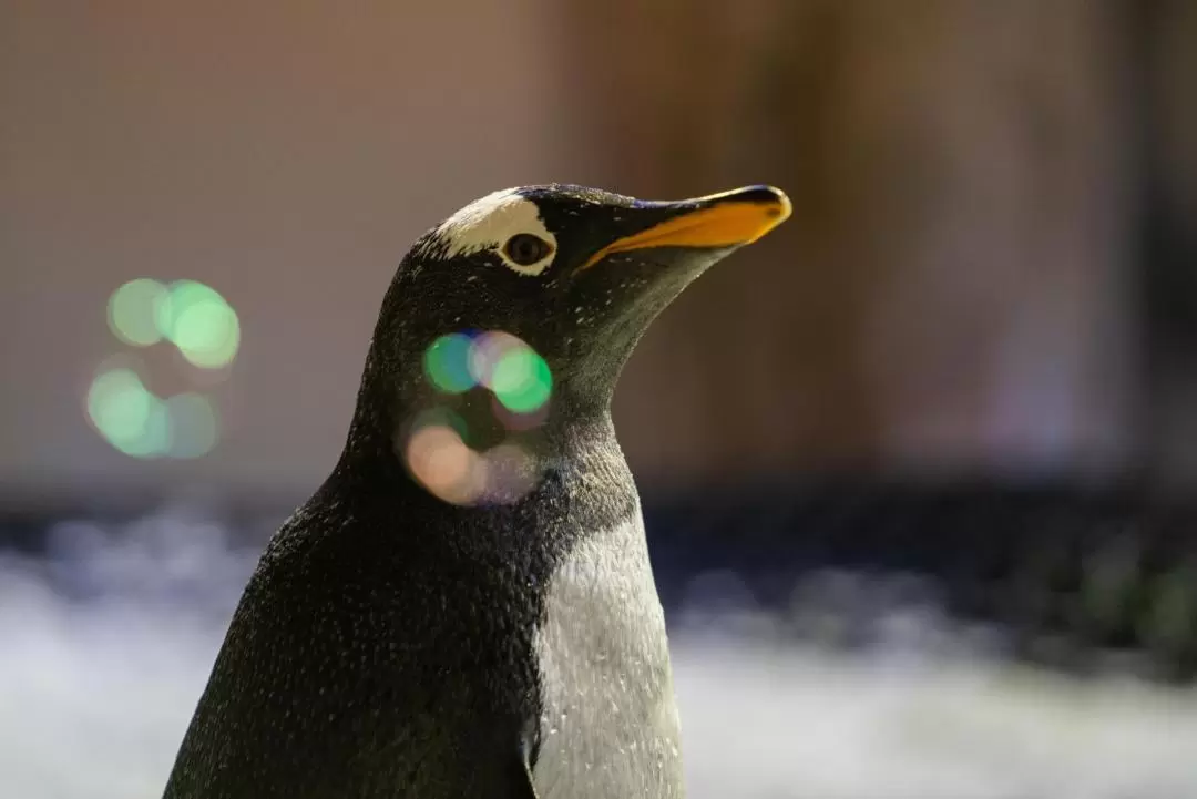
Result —
[[[795, 201], [630, 365], [644, 480], [1185, 470], [1165, 443], [1197, 428], [1190, 370], [1144, 377], [1137, 226], [1165, 148], [1197, 228], [1193, 14], [1152, 7], [1144, 45], [1113, 0], [5, 4], [0, 486], [310, 488], [412, 238], [553, 179]], [[135, 276], [241, 315], [207, 458], [139, 462], [87, 426]], [[202, 378], [139, 358], [162, 394]]]

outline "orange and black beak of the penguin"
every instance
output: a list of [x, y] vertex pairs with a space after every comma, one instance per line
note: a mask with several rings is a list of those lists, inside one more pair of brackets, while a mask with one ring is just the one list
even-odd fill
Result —
[[651, 221], [610, 242], [582, 264], [589, 269], [609, 255], [651, 248], [727, 250], [751, 244], [784, 222], [790, 199], [771, 185], [752, 185], [678, 202], [637, 202], [638, 219]]

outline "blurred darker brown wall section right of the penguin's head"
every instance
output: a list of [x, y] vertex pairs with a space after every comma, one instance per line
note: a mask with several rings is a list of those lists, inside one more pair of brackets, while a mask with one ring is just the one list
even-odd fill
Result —
[[[655, 0], [658, 25], [613, 5], [572, 6], [575, 114], [604, 167], [646, 194], [772, 181], [796, 208], [645, 341], [625, 396], [654, 411], [627, 414], [630, 451], [706, 471], [1126, 464], [1114, 4]], [[620, 47], [636, 57], [602, 57]]]

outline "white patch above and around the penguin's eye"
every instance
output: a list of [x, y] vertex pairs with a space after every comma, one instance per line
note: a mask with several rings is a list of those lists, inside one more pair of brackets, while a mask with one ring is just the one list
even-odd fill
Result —
[[[521, 264], [512, 261], [504, 251], [504, 245], [519, 233], [546, 242], [547, 255], [534, 263]], [[442, 222], [436, 230], [436, 237], [450, 258], [493, 250], [504, 266], [521, 275], [539, 275], [557, 256], [557, 237], [545, 227], [536, 203], [519, 196], [516, 189], [504, 189], [475, 200]]]

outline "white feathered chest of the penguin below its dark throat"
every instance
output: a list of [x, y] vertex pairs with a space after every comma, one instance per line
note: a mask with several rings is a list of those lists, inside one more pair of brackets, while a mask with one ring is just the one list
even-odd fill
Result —
[[681, 797], [664, 614], [639, 514], [582, 541], [557, 571], [535, 648], [541, 799]]

